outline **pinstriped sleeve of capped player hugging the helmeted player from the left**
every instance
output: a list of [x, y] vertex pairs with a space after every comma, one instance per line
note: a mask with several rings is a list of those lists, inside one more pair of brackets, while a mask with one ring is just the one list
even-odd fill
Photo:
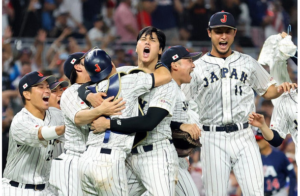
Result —
[[60, 98], [60, 109], [63, 112], [63, 115], [74, 124], [77, 112], [89, 108], [89, 106], [78, 96], [77, 90], [78, 88], [69, 87], [63, 92]]

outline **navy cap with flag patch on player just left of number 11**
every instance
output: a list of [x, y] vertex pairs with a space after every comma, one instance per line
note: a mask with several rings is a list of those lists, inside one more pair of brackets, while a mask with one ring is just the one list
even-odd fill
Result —
[[171, 67], [172, 62], [176, 62], [180, 59], [192, 58], [193, 61], [200, 58], [202, 52], [190, 53], [188, 49], [183, 46], [173, 46], [168, 48], [161, 56], [160, 61], [165, 64], [168, 68]]

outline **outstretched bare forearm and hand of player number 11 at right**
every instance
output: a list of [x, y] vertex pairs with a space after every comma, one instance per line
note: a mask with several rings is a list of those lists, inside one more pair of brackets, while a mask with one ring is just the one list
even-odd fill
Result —
[[291, 82], [283, 82], [279, 86], [271, 85], [262, 97], [267, 100], [278, 98], [285, 92], [291, 93], [291, 89], [295, 90], [297, 87], [296, 83]]

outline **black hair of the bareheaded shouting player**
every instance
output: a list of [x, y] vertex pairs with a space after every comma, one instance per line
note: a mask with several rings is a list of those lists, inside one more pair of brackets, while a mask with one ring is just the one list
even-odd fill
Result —
[[[152, 38], [152, 33], [156, 33], [157, 39], [159, 41], [159, 48], [161, 49], [161, 51], [163, 51], [165, 49], [166, 46], [166, 35], [165, 33], [154, 27], [154, 26], [147, 26], [145, 28], [143, 28], [142, 30], [140, 30], [138, 37], [136, 38], [136, 42], [138, 42], [140, 40], [140, 38], [142, 37], [142, 35], [150, 35], [150, 38]], [[160, 59], [161, 54], [158, 54], [158, 60]]]

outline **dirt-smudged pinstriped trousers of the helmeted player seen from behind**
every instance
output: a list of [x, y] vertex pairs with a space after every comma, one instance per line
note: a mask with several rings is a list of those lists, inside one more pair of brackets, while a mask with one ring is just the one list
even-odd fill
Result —
[[88, 147], [80, 159], [79, 177], [84, 196], [127, 196], [126, 153], [112, 150], [111, 154], [104, 154], [100, 150], [100, 147]]

